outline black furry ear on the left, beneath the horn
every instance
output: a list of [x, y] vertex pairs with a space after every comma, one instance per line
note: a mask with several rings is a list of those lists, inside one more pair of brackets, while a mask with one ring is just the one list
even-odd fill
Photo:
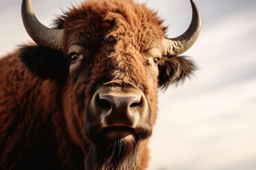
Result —
[[33, 73], [42, 79], [63, 82], [68, 76], [70, 61], [61, 51], [42, 46], [22, 46], [19, 57]]

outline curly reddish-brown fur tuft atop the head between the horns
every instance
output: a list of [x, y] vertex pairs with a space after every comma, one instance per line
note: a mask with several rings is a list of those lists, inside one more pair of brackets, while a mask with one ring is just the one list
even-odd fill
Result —
[[[66, 35], [70, 35], [67, 37], [71, 39], [66, 41], [69, 43], [73, 41], [97, 48], [99, 39], [103, 38], [107, 42], [121, 40], [138, 51], [146, 51], [156, 45], [152, 40], [164, 38], [166, 28], [161, 26], [162, 20], [156, 14], [145, 4], [132, 0], [93, 0], [66, 12], [57, 20], [56, 27], [64, 28]], [[124, 44], [116, 46], [116, 49], [120, 48], [124, 49]]]

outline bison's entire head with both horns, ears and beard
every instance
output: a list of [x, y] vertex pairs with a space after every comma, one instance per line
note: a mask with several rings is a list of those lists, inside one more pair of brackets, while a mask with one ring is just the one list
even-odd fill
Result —
[[23, 22], [38, 46], [23, 49], [22, 60], [62, 86], [67, 129], [84, 151], [87, 170], [135, 170], [148, 159], [157, 89], [195, 67], [177, 56], [200, 31], [191, 4], [189, 29], [169, 39], [155, 12], [129, 0], [83, 2], [58, 18], [56, 29], [40, 24], [31, 0], [23, 0]]

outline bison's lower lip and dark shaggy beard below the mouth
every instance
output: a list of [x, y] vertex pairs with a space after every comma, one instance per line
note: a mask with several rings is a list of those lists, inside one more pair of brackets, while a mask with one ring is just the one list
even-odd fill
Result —
[[92, 148], [85, 170], [138, 170], [139, 145], [150, 136], [135, 135], [132, 129], [110, 127], [90, 135]]

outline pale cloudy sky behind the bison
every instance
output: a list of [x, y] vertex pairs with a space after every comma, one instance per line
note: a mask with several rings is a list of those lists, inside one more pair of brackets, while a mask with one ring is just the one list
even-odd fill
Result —
[[[138, 0], [145, 2], [145, 0]], [[81, 0], [33, 0], [49, 26], [61, 9]], [[184, 53], [198, 71], [159, 93], [148, 170], [256, 170], [256, 1], [195, 0], [202, 30]], [[191, 21], [189, 0], [148, 0], [165, 19], [169, 38]], [[0, 0], [0, 55], [30, 40], [21, 0]]]

